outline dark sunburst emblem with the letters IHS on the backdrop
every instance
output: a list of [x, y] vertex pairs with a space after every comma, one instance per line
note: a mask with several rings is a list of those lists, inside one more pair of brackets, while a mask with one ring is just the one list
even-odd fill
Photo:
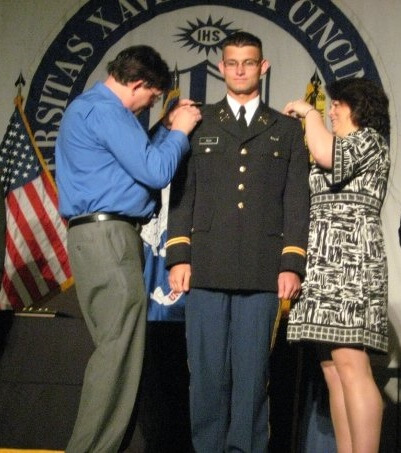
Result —
[[239, 31], [239, 28], [229, 28], [232, 22], [223, 24], [223, 18], [217, 22], [213, 22], [211, 16], [209, 16], [206, 22], [200, 19], [196, 19], [197, 23], [187, 21], [188, 27], [179, 27], [182, 33], [177, 33], [174, 36], [178, 36], [176, 42], [183, 41], [182, 47], [190, 47], [191, 50], [197, 48], [198, 53], [205, 50], [206, 55], [213, 50], [217, 53], [217, 49], [221, 48], [221, 42], [227, 36]]

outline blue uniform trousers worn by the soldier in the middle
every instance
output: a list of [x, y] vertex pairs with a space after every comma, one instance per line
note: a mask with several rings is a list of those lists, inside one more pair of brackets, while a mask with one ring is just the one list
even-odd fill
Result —
[[195, 451], [266, 452], [277, 294], [194, 288], [185, 317]]

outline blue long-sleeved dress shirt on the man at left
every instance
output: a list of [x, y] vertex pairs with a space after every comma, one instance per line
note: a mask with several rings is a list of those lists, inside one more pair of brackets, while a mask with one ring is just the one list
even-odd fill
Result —
[[189, 150], [187, 136], [160, 126], [150, 141], [136, 116], [103, 83], [67, 108], [56, 141], [60, 212], [150, 218], [155, 189], [171, 181]]

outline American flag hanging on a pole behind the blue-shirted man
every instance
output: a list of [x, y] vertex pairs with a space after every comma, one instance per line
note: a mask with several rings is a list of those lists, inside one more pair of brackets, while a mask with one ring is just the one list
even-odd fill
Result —
[[22, 110], [22, 98], [0, 146], [6, 205], [6, 256], [0, 309], [21, 309], [71, 284], [66, 225], [57, 190]]

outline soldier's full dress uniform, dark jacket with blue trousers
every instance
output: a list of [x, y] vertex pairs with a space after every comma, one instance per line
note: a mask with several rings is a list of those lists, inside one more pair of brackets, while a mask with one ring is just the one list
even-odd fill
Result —
[[206, 106], [172, 183], [167, 266], [191, 264], [186, 307], [197, 453], [263, 453], [279, 272], [304, 275], [308, 155], [300, 122], [260, 104], [240, 129]]

